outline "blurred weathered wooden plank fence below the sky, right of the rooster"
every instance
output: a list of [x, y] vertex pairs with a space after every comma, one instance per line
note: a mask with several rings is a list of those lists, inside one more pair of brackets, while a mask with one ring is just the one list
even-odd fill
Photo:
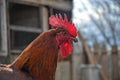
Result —
[[[120, 80], [120, 47], [94, 46], [91, 51], [95, 66], [86, 65], [84, 50], [75, 47], [72, 61], [68, 59], [58, 63], [56, 80]], [[96, 68], [96, 65], [100, 67]]]

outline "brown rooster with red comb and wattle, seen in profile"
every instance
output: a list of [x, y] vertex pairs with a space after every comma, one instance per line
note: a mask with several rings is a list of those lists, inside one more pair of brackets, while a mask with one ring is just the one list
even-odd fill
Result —
[[58, 53], [70, 55], [77, 30], [66, 14], [52, 15], [49, 24], [54, 29], [41, 33], [11, 64], [0, 65], [0, 80], [55, 80]]

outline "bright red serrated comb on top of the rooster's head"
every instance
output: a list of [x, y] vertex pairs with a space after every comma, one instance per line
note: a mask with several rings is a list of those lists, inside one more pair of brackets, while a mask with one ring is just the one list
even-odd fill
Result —
[[62, 18], [61, 14], [56, 14], [56, 16], [52, 15], [49, 18], [49, 24], [54, 27], [64, 27], [69, 31], [70, 34], [77, 36], [77, 29], [72, 21], [68, 21], [66, 14], [64, 14], [64, 19]]

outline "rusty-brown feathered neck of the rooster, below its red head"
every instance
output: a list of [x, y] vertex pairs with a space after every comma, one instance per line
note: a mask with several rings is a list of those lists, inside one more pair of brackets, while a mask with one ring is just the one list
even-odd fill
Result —
[[25, 66], [35, 80], [55, 80], [58, 58], [55, 36], [55, 29], [42, 33], [9, 67], [22, 69]]

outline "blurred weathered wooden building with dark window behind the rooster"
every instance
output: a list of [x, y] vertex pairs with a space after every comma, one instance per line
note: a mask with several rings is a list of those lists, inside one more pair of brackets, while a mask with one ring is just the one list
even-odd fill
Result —
[[50, 29], [48, 17], [66, 13], [72, 0], [0, 0], [0, 63], [9, 63], [41, 32]]

